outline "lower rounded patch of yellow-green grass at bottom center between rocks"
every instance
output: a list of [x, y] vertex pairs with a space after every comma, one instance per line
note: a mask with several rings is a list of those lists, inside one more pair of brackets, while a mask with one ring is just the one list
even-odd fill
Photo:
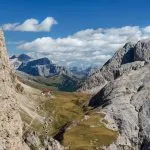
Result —
[[118, 133], [108, 129], [101, 119], [101, 114], [92, 114], [87, 120], [70, 127], [64, 133], [63, 144], [69, 150], [94, 150], [110, 145]]

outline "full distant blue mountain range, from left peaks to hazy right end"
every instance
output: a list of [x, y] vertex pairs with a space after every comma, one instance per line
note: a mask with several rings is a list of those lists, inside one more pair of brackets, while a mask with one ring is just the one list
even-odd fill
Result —
[[48, 58], [33, 59], [27, 54], [13, 55], [10, 57], [13, 68], [32, 76], [50, 77], [60, 74], [85, 78], [89, 76], [96, 67], [78, 68], [59, 66], [52, 63]]

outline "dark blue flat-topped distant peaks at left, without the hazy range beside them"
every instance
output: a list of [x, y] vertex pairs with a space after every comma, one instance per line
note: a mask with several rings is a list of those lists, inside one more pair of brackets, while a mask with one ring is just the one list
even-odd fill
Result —
[[15, 69], [32, 76], [50, 77], [68, 73], [65, 67], [53, 64], [48, 58], [32, 59], [26, 54], [21, 54], [18, 57], [10, 57], [10, 61]]

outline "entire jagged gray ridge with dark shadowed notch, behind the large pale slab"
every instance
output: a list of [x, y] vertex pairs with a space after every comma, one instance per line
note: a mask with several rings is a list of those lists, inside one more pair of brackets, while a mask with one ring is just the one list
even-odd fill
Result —
[[[109, 81], [113, 81], [116, 78], [116, 70], [123, 68], [123, 65], [128, 63], [135, 65], [136, 61], [150, 62], [150, 40], [142, 40], [137, 42], [137, 44], [125, 44], [125, 46], [119, 49], [101, 69], [97, 70], [88, 78], [80, 90], [97, 93]], [[133, 62], [135, 62], [135, 64], [133, 64]], [[136, 68], [139, 68], [142, 64], [140, 64], [140, 62], [137, 63]], [[132, 67], [130, 66], [126, 70], [132, 70]]]

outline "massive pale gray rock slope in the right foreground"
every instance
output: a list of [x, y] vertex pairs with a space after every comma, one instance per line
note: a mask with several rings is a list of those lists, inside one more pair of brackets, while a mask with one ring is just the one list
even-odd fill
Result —
[[150, 65], [109, 82], [89, 102], [106, 114], [117, 141], [106, 149], [150, 149]]

